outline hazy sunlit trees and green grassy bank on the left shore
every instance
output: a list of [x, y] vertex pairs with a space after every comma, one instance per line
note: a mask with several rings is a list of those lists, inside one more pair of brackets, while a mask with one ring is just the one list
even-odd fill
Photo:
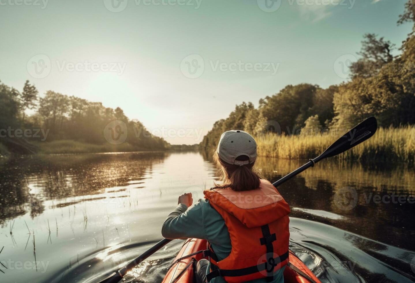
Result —
[[[49, 131], [46, 142], [38, 143], [43, 152], [165, 150], [170, 147], [164, 139], [152, 135], [138, 120], [129, 120], [120, 107], [112, 109], [100, 102], [90, 102], [51, 90], [39, 98], [37, 112], [25, 119], [24, 110], [33, 109], [37, 99], [37, 89], [29, 81], [24, 84], [22, 93], [0, 84], [0, 129], [11, 127]], [[114, 120], [127, 125], [127, 140], [120, 146], [108, 144], [103, 135], [105, 126]], [[51, 141], [61, 142], [48, 143]], [[6, 137], [0, 142], [12, 152], [24, 153], [25, 149], [30, 149], [30, 144], [25, 140]]]

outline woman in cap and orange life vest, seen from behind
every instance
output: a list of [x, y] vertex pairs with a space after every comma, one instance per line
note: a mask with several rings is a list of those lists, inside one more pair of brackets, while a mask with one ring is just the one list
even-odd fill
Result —
[[269, 181], [252, 171], [254, 138], [244, 131], [223, 133], [214, 159], [222, 183], [205, 190], [205, 199], [192, 207], [192, 195], [181, 195], [161, 234], [208, 241], [209, 260], [196, 267], [198, 283], [283, 282], [290, 208]]

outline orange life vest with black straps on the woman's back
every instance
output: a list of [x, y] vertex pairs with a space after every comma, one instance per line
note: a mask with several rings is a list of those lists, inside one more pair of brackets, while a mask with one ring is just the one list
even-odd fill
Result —
[[229, 283], [267, 278], [288, 263], [290, 207], [266, 180], [256, 190], [237, 192], [231, 188], [205, 190], [229, 231], [232, 250], [218, 261], [210, 244], [207, 281], [222, 276]]

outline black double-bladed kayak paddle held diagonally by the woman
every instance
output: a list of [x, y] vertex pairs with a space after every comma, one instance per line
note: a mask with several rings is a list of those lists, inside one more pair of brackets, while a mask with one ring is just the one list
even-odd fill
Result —
[[[287, 176], [284, 176], [283, 178], [279, 179], [278, 181], [273, 183], [273, 185], [277, 187], [278, 185], [281, 185], [282, 183], [293, 178], [295, 175], [303, 172], [305, 169], [314, 166], [314, 164], [317, 163], [318, 161], [325, 159], [327, 157], [341, 154], [342, 152], [347, 151], [348, 149], [351, 149], [352, 147], [364, 142], [366, 139], [369, 139], [371, 136], [375, 134], [377, 127], [378, 127], [378, 123], [375, 117], [367, 118], [366, 120], [358, 124], [356, 127], [351, 129], [349, 132], [344, 134], [342, 137], [340, 137], [336, 142], [334, 142], [334, 144], [329, 146], [328, 149], [326, 149], [322, 154], [317, 156], [315, 159], [310, 159], [310, 161], [305, 163], [303, 166], [289, 173]], [[121, 268], [120, 270], [116, 272], [113, 272], [110, 276], [101, 280], [98, 283], [120, 282], [121, 279], [125, 276], [125, 273], [127, 273], [127, 271], [132, 269], [134, 266], [137, 266], [139, 263], [144, 261], [144, 259], [151, 256], [152, 254], [154, 254], [156, 251], [158, 251], [159, 249], [161, 249], [163, 246], [165, 246], [171, 241], [172, 240], [170, 239], [162, 239], [160, 242], [152, 246], [150, 249], [148, 249], [144, 253], [140, 254], [136, 259], [128, 263], [126, 266], [124, 266], [123, 268]]]

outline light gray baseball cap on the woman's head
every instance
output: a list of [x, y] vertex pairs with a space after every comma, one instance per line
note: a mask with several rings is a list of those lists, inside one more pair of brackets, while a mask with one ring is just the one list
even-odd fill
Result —
[[[255, 162], [256, 159], [256, 142], [247, 132], [240, 130], [227, 131], [220, 136], [217, 154], [220, 159], [229, 164], [250, 164]], [[249, 160], [236, 160], [241, 155], [248, 156]]]

